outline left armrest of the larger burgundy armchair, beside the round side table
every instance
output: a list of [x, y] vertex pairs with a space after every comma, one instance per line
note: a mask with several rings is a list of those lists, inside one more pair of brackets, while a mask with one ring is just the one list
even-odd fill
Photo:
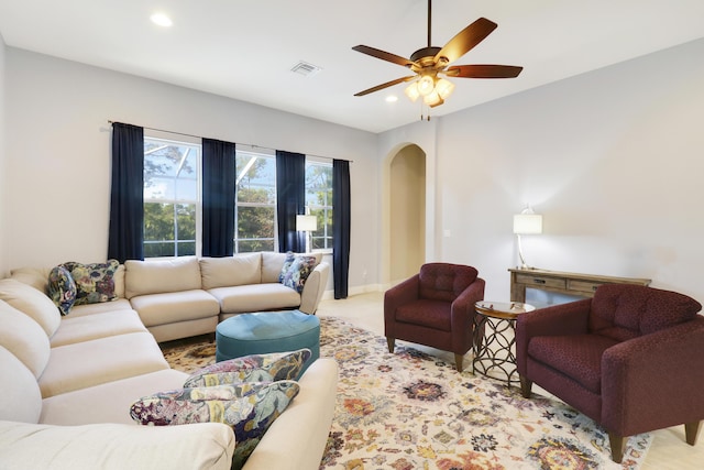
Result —
[[518, 373], [526, 374], [530, 338], [587, 332], [591, 307], [592, 299], [585, 298], [520, 314], [516, 319], [516, 367]]

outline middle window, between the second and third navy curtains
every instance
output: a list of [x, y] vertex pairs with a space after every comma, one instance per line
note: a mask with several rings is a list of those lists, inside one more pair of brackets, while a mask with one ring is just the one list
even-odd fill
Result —
[[276, 250], [276, 160], [238, 150], [234, 252]]

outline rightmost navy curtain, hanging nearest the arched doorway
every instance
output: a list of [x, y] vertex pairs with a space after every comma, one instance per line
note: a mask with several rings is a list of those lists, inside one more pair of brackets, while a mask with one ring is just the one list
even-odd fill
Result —
[[350, 162], [332, 161], [332, 276], [334, 298], [348, 298], [350, 273]]

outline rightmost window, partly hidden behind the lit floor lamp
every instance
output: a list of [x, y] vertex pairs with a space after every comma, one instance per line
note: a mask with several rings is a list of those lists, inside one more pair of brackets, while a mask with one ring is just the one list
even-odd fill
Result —
[[332, 164], [306, 159], [306, 206], [318, 219], [311, 250], [332, 250]]

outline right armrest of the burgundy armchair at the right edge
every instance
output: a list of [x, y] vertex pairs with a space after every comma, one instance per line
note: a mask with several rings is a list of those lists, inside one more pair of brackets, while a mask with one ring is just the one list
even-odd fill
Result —
[[602, 424], [631, 436], [704, 419], [704, 317], [620, 342], [602, 358]]

